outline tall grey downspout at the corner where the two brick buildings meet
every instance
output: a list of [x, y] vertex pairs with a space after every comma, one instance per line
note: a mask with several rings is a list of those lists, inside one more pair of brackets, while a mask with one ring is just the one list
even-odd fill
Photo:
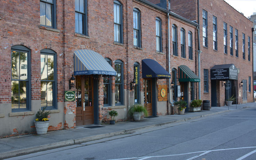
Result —
[[[200, 66], [200, 53], [202, 52], [201, 50], [200, 50], [200, 21], [199, 21], [199, 0], [197, 0], [197, 5], [198, 5], [198, 8], [197, 8], [197, 16], [198, 16], [198, 27], [197, 27], [197, 35], [198, 35], [198, 77], [199, 77], [199, 79], [201, 79], [200, 78], [200, 72], [201, 72], [201, 66]], [[201, 99], [201, 81], [198, 83], [198, 99]]]

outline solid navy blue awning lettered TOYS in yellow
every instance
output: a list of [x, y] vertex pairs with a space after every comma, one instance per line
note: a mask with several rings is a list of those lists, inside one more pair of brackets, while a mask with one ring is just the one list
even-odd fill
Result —
[[171, 78], [171, 75], [157, 61], [142, 60], [142, 78]]

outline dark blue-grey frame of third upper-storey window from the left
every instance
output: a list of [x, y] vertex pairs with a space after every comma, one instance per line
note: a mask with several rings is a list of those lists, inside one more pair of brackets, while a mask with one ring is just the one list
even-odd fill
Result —
[[[119, 17], [120, 17], [120, 23], [117, 23], [115, 22], [115, 14], [114, 14], [114, 41], [115, 42], [118, 42], [118, 43], [123, 43], [123, 5], [121, 2], [117, 1], [117, 0], [114, 0], [114, 6], [119, 6]], [[115, 38], [115, 35], [116, 35], [116, 31], [115, 31], [115, 25], [116, 26], [119, 26], [119, 40], [120, 41], [117, 41], [116, 38]]]

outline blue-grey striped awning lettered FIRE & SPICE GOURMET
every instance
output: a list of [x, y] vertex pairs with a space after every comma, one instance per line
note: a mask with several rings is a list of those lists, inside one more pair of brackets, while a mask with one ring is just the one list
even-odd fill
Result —
[[74, 75], [111, 75], [116, 76], [114, 68], [92, 50], [76, 50], [74, 52]]

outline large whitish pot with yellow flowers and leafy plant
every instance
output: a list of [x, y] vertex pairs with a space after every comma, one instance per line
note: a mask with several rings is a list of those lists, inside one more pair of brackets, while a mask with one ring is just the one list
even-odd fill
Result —
[[39, 109], [37, 114], [35, 115], [35, 129], [37, 130], [38, 135], [43, 135], [47, 133], [49, 127], [49, 119], [48, 116], [50, 115], [50, 111], [45, 111], [46, 107], [42, 110]]

